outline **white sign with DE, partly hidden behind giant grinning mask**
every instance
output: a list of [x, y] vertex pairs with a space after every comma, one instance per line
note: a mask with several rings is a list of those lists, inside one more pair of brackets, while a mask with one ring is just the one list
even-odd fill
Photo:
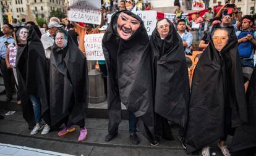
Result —
[[142, 18], [148, 35], [152, 35], [153, 30], [156, 28], [156, 11], [155, 10], [145, 10], [136, 11], [134, 14], [139, 15]]

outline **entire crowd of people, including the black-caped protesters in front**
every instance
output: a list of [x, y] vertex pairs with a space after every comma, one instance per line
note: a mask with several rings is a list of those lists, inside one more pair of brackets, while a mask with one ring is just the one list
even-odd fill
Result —
[[[103, 3], [96, 27], [56, 17], [49, 19], [44, 34], [25, 20], [2, 26], [0, 59], [6, 101], [18, 91], [17, 103], [22, 105], [30, 134], [59, 131], [61, 137], [77, 125], [78, 141], [87, 138], [87, 65], [92, 62], [87, 61], [84, 38], [105, 33], [105, 60], [98, 61], [108, 95], [105, 141], [118, 134], [122, 103], [129, 111], [132, 144], [140, 142], [137, 129], [151, 146], [158, 146], [161, 139], [173, 140], [171, 121], [180, 127], [178, 138], [187, 154], [202, 150], [203, 156], [210, 156], [210, 145], [218, 141], [225, 156], [254, 155], [254, 18], [242, 17], [236, 6], [228, 7], [230, 3], [219, 3], [214, 12], [208, 8], [203, 17], [193, 17], [197, 29], [188, 18], [181, 18], [178, 7], [175, 21], [158, 19], [148, 36], [143, 20], [130, 11], [143, 2], [116, 2]], [[203, 52], [189, 81], [186, 56], [193, 53], [189, 32], [193, 29], [202, 39]], [[231, 152], [225, 144], [228, 135], [233, 135]]]

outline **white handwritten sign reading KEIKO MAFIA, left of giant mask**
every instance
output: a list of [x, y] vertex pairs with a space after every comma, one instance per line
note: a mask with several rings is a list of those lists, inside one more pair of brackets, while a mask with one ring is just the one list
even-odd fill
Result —
[[102, 50], [104, 33], [85, 35], [85, 52], [87, 60], [105, 60]]

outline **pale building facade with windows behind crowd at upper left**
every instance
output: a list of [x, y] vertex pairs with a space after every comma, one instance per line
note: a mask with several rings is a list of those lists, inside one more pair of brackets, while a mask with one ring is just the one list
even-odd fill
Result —
[[61, 9], [66, 12], [65, 0], [2, 0], [2, 14], [11, 12], [13, 18], [20, 18], [20, 14], [30, 14], [48, 20], [52, 10]]

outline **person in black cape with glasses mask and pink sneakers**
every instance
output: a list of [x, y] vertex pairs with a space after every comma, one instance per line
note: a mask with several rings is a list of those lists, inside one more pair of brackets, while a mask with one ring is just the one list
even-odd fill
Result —
[[51, 124], [65, 124], [59, 131], [64, 136], [80, 126], [79, 141], [87, 136], [85, 112], [88, 105], [87, 59], [65, 30], [55, 36], [50, 62]]

